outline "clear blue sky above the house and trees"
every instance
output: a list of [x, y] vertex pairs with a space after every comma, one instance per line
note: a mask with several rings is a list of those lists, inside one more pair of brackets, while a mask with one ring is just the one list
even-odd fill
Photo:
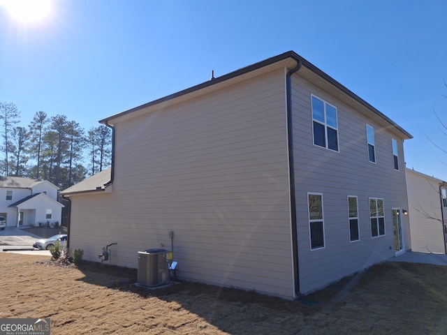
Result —
[[406, 166], [447, 180], [447, 1], [53, 0], [17, 22], [0, 0], [0, 101], [21, 125], [98, 120], [293, 50], [413, 135]]

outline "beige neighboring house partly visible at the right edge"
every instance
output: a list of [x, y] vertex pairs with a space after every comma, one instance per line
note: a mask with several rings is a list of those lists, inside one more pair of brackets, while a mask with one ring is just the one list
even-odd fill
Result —
[[411, 251], [446, 253], [447, 183], [406, 169]]

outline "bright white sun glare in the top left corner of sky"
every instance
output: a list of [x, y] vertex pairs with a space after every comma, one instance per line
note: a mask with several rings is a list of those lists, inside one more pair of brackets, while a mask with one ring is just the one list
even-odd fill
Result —
[[22, 23], [45, 20], [51, 12], [51, 0], [0, 0], [0, 5]]

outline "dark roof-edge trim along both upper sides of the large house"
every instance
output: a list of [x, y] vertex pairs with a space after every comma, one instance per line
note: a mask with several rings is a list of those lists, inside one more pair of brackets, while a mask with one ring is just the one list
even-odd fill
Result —
[[144, 105], [140, 105], [138, 107], [134, 107], [131, 110], [126, 110], [126, 111], [121, 112], [119, 114], [115, 114], [112, 117], [108, 117], [106, 119], [102, 119], [99, 122], [101, 124], [106, 124], [107, 125], [108, 122], [111, 119], [115, 119], [117, 117], [122, 117], [122, 116], [124, 116], [126, 114], [131, 114], [132, 112], [135, 112], [137, 110], [141, 110], [143, 108], [146, 108], [146, 107], [149, 107], [149, 106], [152, 106], [152, 105], [163, 103], [165, 101], [170, 101], [173, 98], [177, 98], [179, 96], [184, 96], [185, 94], [189, 94], [191, 92], [198, 91], [199, 89], [203, 89], [205, 87], [209, 87], [209, 86], [217, 84], [219, 82], [224, 82], [225, 80], [230, 80], [230, 79], [232, 79], [234, 77], [243, 75], [245, 73], [249, 73], [249, 72], [251, 72], [253, 70], [257, 70], [259, 68], [263, 68], [264, 66], [269, 66], [271, 64], [277, 63], [278, 61], [283, 61], [283, 60], [288, 59], [288, 58], [293, 59], [298, 64], [301, 63], [302, 66], [305, 66], [306, 68], [309, 68], [309, 70], [312, 70], [312, 72], [314, 72], [316, 75], [318, 75], [319, 77], [323, 78], [324, 80], [326, 80], [327, 82], [332, 84], [334, 87], [337, 87], [337, 89], [342, 91], [347, 96], [350, 96], [351, 98], [356, 100], [361, 105], [367, 107], [367, 109], [369, 109], [372, 112], [374, 112], [375, 114], [377, 114], [384, 121], [386, 121], [389, 124], [392, 124], [393, 126], [395, 126], [397, 129], [399, 129], [399, 131], [404, 133], [407, 137], [413, 138], [413, 136], [410, 133], [406, 132], [403, 128], [401, 128], [399, 125], [397, 125], [393, 120], [388, 118], [385, 114], [379, 112], [379, 110], [376, 110], [376, 108], [372, 107], [372, 105], [369, 105], [369, 103], [367, 103], [362, 98], [360, 98], [359, 96], [354, 94], [351, 90], [349, 90], [346, 87], [344, 87], [344, 85], [342, 85], [339, 82], [337, 82], [337, 80], [335, 80], [334, 78], [330, 77], [330, 75], [324, 73], [322, 70], [320, 70], [319, 68], [314, 66], [312, 63], [310, 63], [306, 59], [302, 58], [299, 54], [297, 54], [297, 53], [295, 53], [293, 51], [284, 52], [284, 54], [279, 54], [278, 56], [274, 56], [274, 57], [265, 59], [265, 60], [260, 61], [260, 62], [258, 62], [256, 64], [252, 64], [250, 66], [246, 66], [244, 68], [240, 68], [239, 70], [235, 70], [235, 71], [233, 71], [231, 73], [228, 73], [226, 75], [222, 75], [221, 77], [213, 78], [212, 80], [209, 80], [207, 82], [203, 82], [202, 84], [198, 84], [196, 86], [189, 87], [189, 89], [184, 89], [184, 90], [179, 91], [179, 92], [177, 92], [175, 94], [170, 94], [169, 96], [164, 96], [163, 98], [159, 98], [159, 99], [151, 101], [149, 103], [145, 103]]

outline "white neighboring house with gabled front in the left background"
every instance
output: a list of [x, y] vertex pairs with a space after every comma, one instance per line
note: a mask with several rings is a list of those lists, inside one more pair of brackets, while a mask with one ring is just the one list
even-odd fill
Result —
[[7, 227], [61, 223], [59, 188], [49, 181], [0, 177], [0, 216]]

